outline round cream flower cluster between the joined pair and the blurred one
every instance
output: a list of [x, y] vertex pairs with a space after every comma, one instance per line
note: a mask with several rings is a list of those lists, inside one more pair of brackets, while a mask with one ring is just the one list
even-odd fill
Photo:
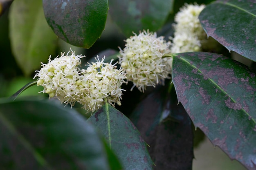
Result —
[[[139, 35], [126, 40], [124, 50], [120, 48], [119, 61], [126, 71], [126, 79], [133, 82], [139, 91], [144, 92], [146, 86], [163, 84], [165, 78], [170, 78], [172, 58], [163, 56], [170, 53], [171, 43], [156, 33], [143, 31]], [[131, 89], [132, 90], [132, 89]]]

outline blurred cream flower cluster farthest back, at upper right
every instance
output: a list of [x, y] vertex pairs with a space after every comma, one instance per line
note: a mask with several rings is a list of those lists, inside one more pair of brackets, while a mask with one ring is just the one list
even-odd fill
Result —
[[184, 53], [189, 51], [201, 51], [202, 43], [207, 40], [198, 16], [205, 5], [185, 4], [175, 15], [173, 24], [175, 32], [171, 52]]

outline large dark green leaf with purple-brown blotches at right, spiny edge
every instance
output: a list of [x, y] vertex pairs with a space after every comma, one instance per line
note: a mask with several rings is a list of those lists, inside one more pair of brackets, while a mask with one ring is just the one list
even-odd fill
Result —
[[231, 159], [256, 168], [256, 76], [214, 53], [173, 58], [173, 84], [195, 127]]

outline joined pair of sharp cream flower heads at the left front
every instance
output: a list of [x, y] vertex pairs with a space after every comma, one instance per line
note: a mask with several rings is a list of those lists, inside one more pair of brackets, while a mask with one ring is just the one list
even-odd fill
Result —
[[[49, 97], [57, 97], [61, 103], [74, 106], [75, 102], [83, 105], [85, 110], [99, 109], [103, 104], [104, 98], [114, 106], [115, 103], [121, 105], [120, 99], [123, 89], [121, 85], [126, 78], [122, 68], [116, 69], [112, 61], [104, 63], [105, 57], [100, 61], [88, 64], [88, 68], [79, 69], [83, 55], [61, 54], [51, 60], [48, 64], [42, 63], [40, 71], [36, 71], [35, 77], [37, 85], [43, 86], [43, 93], [48, 93]], [[34, 78], [35, 78], [34, 77]]]

